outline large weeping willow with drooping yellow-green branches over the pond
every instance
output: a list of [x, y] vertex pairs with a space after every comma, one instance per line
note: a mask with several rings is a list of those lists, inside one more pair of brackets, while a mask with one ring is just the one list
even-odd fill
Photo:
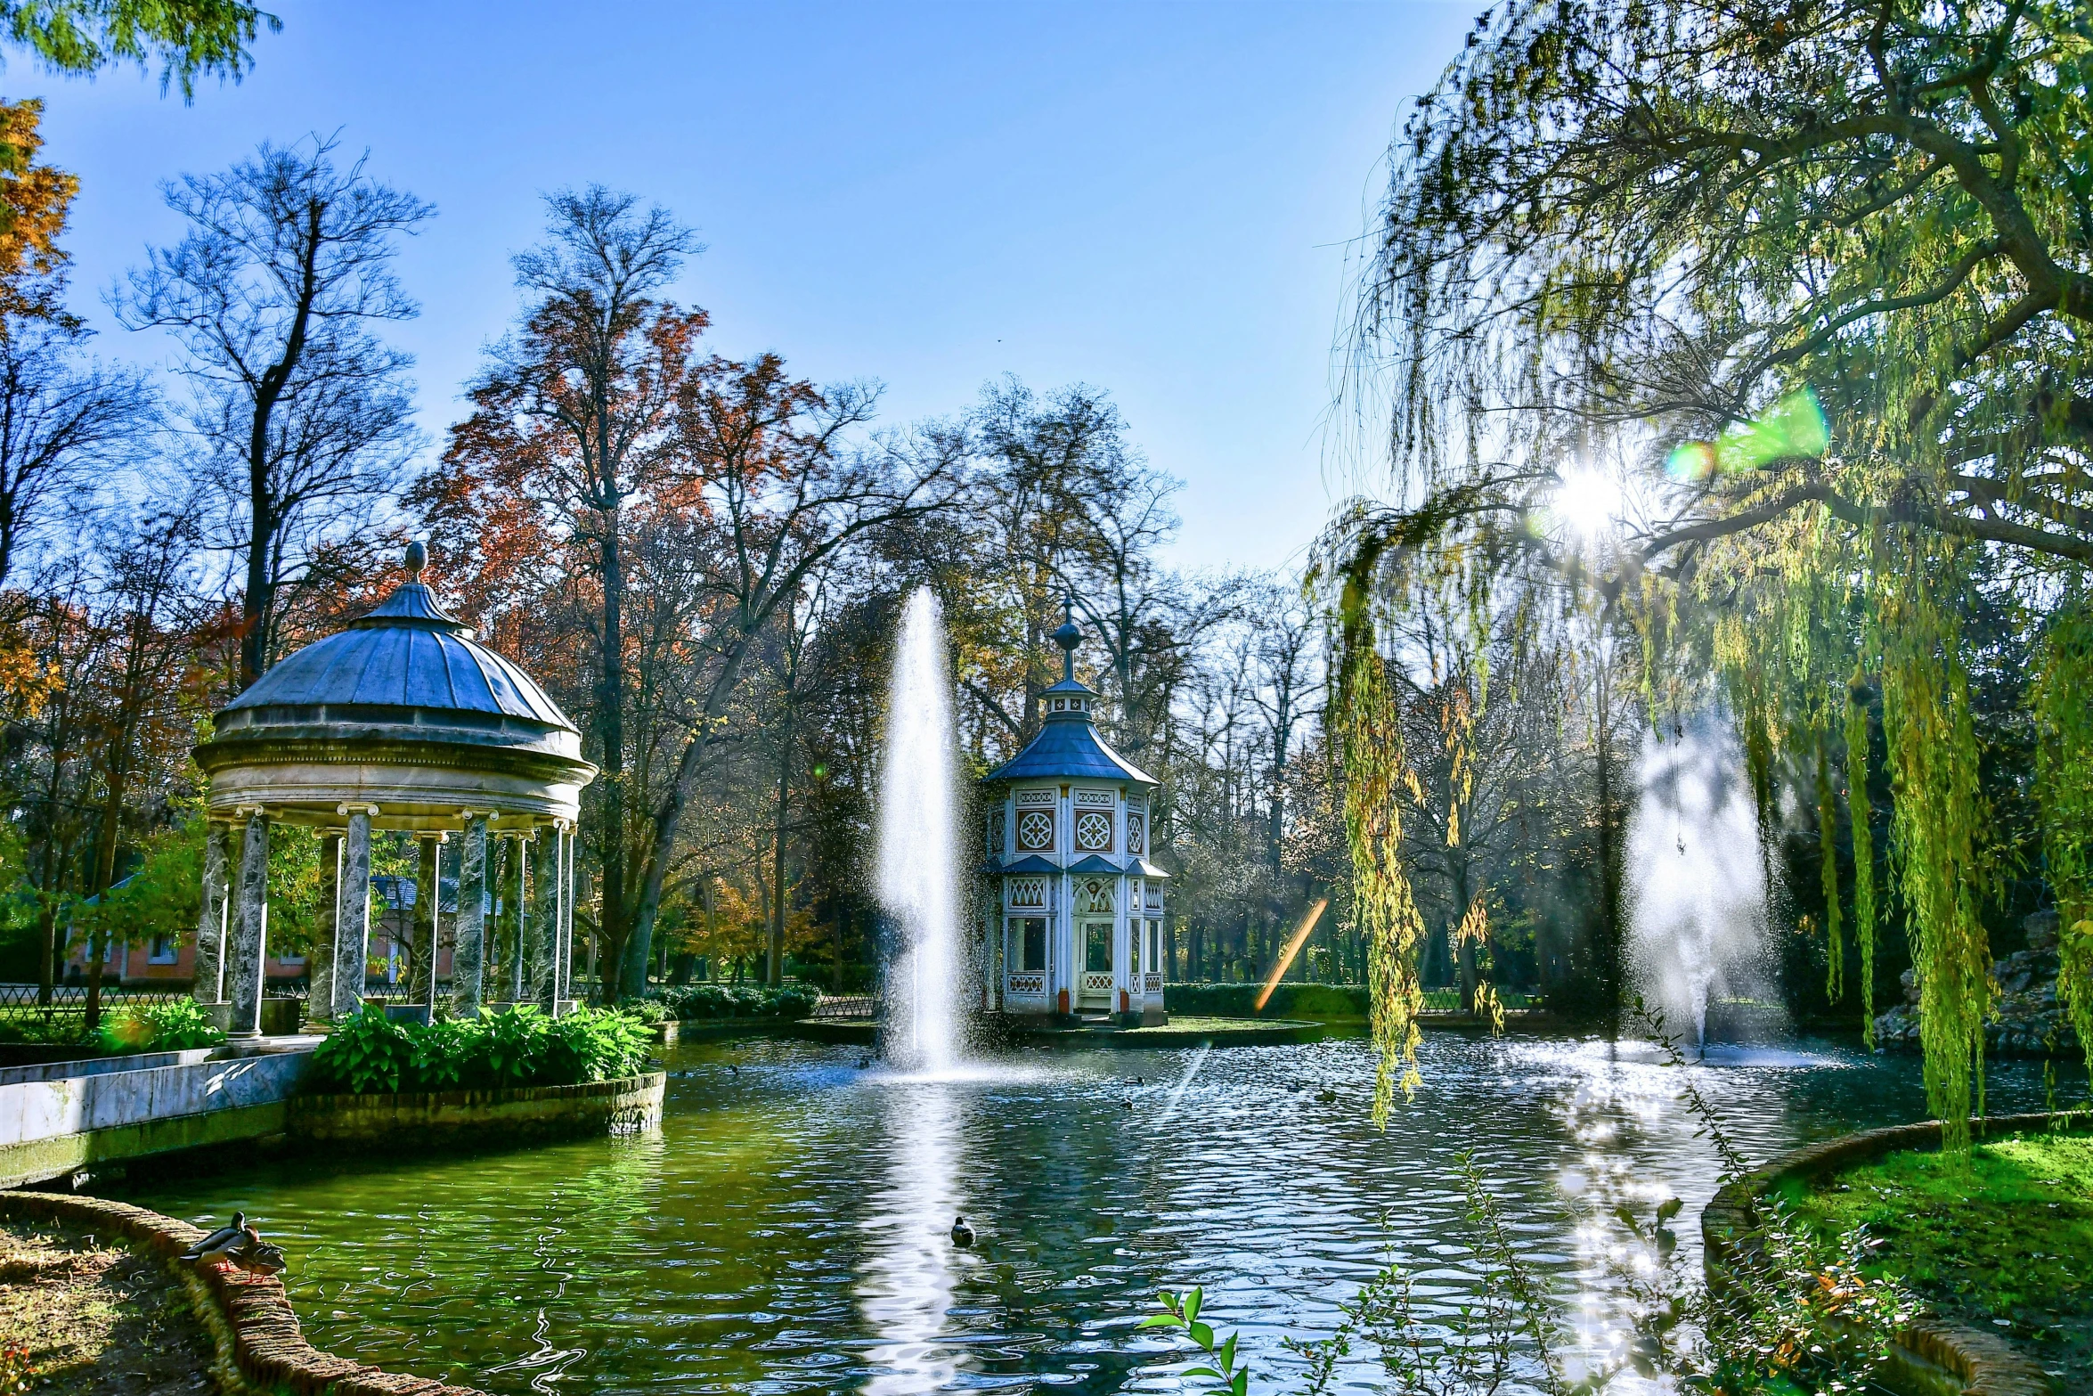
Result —
[[[1354, 337], [1354, 421], [1396, 494], [1358, 555], [1494, 532], [1635, 603], [1649, 672], [1727, 697], [1762, 810], [1777, 766], [1808, 770], [1827, 931], [1842, 751], [1863, 969], [1877, 676], [1928, 1099], [1957, 1139], [1995, 856], [1957, 607], [1982, 576], [2041, 624], [2093, 563], [2089, 75], [2074, 0], [1494, 6], [1390, 153]], [[1628, 460], [1603, 546], [1549, 523], [1599, 456]], [[2047, 862], [2083, 1015], [2083, 649], [2060, 628], [2047, 653]]]

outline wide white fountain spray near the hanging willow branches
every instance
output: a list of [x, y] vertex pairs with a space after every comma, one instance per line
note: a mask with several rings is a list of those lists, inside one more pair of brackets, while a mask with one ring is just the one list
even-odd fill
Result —
[[1743, 751], [1720, 714], [1643, 741], [1628, 823], [1633, 959], [1649, 998], [1708, 1040], [1708, 996], [1756, 986], [1766, 873]]

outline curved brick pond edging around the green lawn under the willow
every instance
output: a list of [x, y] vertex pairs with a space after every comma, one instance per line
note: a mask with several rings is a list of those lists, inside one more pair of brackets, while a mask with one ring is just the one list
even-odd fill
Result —
[[[1990, 1134], [2047, 1130], [2053, 1124], [2085, 1124], [2087, 1120], [2087, 1111], [1990, 1116], [1972, 1120], [1970, 1134], [1982, 1141]], [[1733, 1183], [1725, 1183], [1702, 1208], [1702, 1254], [1708, 1283], [1720, 1287], [1731, 1256], [1750, 1245], [1752, 1233], [1758, 1229], [1758, 1199], [1781, 1183], [1821, 1178], [1856, 1164], [1871, 1164], [1886, 1153], [1938, 1147], [1940, 1122], [1926, 1120], [1923, 1124], [1865, 1130], [1794, 1149]], [[1915, 1319], [1896, 1335], [1896, 1344], [1890, 1348], [1888, 1386], [1913, 1396], [2047, 1396], [2051, 1390], [2043, 1369], [1999, 1335], [1932, 1314]]]

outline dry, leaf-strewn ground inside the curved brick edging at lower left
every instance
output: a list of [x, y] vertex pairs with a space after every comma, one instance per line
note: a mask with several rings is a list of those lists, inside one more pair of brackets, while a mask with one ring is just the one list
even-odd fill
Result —
[[0, 1342], [27, 1350], [29, 1392], [209, 1396], [211, 1339], [151, 1256], [77, 1226], [0, 1224]]

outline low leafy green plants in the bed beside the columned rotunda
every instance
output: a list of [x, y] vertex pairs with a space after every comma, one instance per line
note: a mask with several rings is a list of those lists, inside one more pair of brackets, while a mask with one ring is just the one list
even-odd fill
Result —
[[314, 1051], [306, 1088], [368, 1095], [573, 1086], [636, 1076], [651, 1046], [647, 1026], [615, 1009], [576, 1009], [555, 1019], [519, 1005], [435, 1023], [393, 1023], [370, 1009], [339, 1023]]

